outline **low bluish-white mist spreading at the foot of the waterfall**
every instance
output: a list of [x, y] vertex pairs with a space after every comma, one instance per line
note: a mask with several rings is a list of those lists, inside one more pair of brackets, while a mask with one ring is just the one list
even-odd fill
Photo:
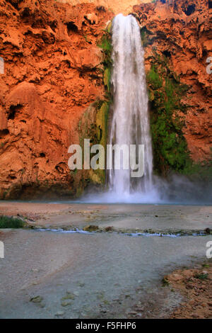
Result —
[[148, 193], [131, 191], [117, 193], [112, 190], [88, 188], [76, 203], [141, 203], [158, 205], [211, 205], [211, 184], [192, 181], [187, 176], [172, 174], [166, 179], [153, 176], [154, 188]]

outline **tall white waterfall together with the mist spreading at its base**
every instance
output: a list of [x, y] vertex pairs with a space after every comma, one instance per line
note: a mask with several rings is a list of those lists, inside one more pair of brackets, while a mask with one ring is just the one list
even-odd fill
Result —
[[[134, 16], [117, 15], [112, 25], [113, 105], [110, 145], [144, 145], [144, 176], [131, 178], [130, 170], [107, 172], [107, 191], [95, 189], [80, 202], [87, 203], [211, 203], [211, 187], [186, 176], [168, 179], [153, 175], [153, 151], [148, 115], [144, 50]], [[211, 192], [211, 193], [210, 193]]]

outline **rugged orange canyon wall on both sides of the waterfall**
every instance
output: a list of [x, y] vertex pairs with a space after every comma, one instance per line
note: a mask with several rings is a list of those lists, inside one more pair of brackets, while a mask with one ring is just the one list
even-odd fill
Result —
[[[194, 160], [208, 159], [211, 1], [163, 2], [129, 9], [146, 32], [146, 71], [158, 52], [189, 85], [183, 101], [189, 106], [184, 136]], [[0, 198], [76, 196], [90, 182], [86, 175], [81, 184], [82, 175], [69, 170], [67, 151], [80, 142], [88, 125], [95, 122], [100, 128], [104, 118], [107, 82], [98, 45], [114, 17], [112, 10], [119, 10], [119, 1], [107, 3], [1, 1], [0, 56], [5, 71], [0, 74]]]

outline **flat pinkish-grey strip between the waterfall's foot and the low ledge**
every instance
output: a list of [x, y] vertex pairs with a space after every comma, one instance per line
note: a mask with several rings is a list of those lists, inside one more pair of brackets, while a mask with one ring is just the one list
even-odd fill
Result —
[[41, 227], [112, 226], [116, 230], [212, 229], [212, 206], [13, 203], [0, 201], [0, 215], [23, 215]]

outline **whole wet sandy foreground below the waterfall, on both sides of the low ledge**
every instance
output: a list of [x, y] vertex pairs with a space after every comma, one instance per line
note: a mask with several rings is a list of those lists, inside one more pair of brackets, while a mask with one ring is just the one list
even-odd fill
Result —
[[[0, 317], [211, 317], [211, 271], [206, 262], [211, 235], [123, 233], [145, 228], [204, 230], [211, 227], [211, 210], [209, 206], [1, 202], [0, 215], [22, 215], [34, 227], [99, 225], [122, 232], [1, 230], [5, 258], [0, 259]], [[192, 275], [184, 275], [192, 269]], [[196, 270], [208, 271], [208, 278], [196, 278]], [[165, 286], [164, 276], [168, 276]], [[194, 300], [190, 308], [184, 305], [187, 298]]]

